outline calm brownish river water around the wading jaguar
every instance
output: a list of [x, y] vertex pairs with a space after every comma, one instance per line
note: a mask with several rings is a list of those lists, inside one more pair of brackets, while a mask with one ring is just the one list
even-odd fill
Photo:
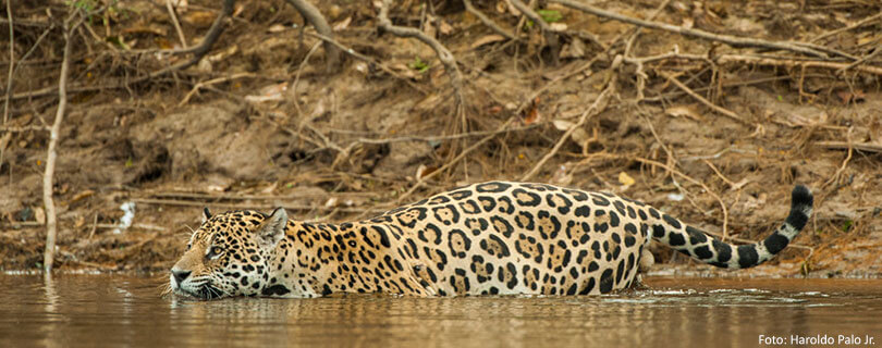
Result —
[[0, 275], [0, 347], [882, 347], [879, 279], [649, 278], [650, 289], [596, 297], [209, 302], [161, 298], [164, 282]]

